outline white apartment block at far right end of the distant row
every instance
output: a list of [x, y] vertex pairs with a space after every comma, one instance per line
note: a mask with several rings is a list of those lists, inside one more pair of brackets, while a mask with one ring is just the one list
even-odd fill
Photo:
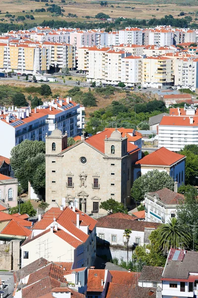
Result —
[[175, 60], [175, 85], [180, 88], [198, 88], [198, 59], [180, 58]]

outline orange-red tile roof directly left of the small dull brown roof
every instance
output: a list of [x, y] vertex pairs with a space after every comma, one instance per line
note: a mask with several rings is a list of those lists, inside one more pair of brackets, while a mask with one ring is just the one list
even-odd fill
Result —
[[120, 285], [138, 285], [138, 280], [141, 275], [139, 272], [125, 272], [125, 271], [109, 271], [112, 276], [112, 283]]

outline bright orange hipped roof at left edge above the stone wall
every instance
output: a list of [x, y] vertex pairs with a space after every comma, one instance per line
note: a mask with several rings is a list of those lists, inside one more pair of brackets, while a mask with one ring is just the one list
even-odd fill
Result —
[[15, 220], [10, 220], [9, 223], [0, 231], [0, 234], [27, 237], [31, 234], [31, 231], [21, 224], [15, 222]]

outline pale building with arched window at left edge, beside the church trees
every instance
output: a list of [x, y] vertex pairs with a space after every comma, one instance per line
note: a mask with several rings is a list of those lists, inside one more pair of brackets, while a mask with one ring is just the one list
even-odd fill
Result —
[[17, 206], [18, 179], [0, 174], [0, 201], [7, 207]]

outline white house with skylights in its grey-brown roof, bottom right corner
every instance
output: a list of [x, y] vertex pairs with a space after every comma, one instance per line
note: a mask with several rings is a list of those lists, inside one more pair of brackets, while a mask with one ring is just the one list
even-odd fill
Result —
[[162, 273], [162, 297], [197, 297], [198, 295], [198, 252], [169, 250]]

